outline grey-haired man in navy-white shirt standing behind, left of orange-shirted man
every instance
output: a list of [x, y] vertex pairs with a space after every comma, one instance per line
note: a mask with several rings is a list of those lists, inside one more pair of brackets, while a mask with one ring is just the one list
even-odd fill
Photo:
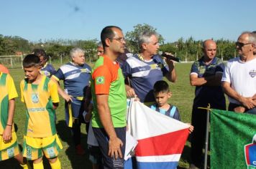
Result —
[[59, 94], [65, 99], [65, 120], [72, 127], [76, 153], [83, 155], [81, 146], [81, 122], [83, 122], [84, 99], [91, 78], [91, 67], [85, 63], [84, 51], [74, 48], [70, 51], [71, 62], [64, 64], [52, 75], [53, 80], [64, 81], [64, 91], [58, 87]]

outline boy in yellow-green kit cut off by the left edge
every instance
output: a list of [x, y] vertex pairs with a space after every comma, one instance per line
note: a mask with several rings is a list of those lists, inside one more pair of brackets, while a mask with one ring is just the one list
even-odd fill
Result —
[[14, 80], [9, 74], [0, 72], [0, 161], [16, 158], [22, 168], [28, 168], [19, 151], [14, 131], [15, 98], [18, 97]]

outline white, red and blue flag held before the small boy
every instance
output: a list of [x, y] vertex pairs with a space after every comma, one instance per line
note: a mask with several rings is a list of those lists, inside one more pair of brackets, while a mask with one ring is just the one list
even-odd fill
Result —
[[137, 168], [176, 168], [188, 138], [188, 125], [131, 101], [128, 132], [138, 141]]

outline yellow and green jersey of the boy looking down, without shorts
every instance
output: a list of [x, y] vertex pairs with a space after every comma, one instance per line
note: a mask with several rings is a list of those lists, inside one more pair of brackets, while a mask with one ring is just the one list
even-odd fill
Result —
[[40, 84], [31, 84], [27, 79], [23, 79], [20, 89], [21, 100], [27, 108], [24, 135], [29, 137], [55, 135], [55, 109], [52, 103], [59, 102], [57, 84], [43, 75]]

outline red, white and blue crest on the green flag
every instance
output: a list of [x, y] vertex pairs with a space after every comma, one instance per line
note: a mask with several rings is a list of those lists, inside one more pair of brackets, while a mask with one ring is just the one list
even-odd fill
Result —
[[252, 143], [244, 145], [244, 156], [248, 169], [256, 168], [256, 134], [252, 138]]

